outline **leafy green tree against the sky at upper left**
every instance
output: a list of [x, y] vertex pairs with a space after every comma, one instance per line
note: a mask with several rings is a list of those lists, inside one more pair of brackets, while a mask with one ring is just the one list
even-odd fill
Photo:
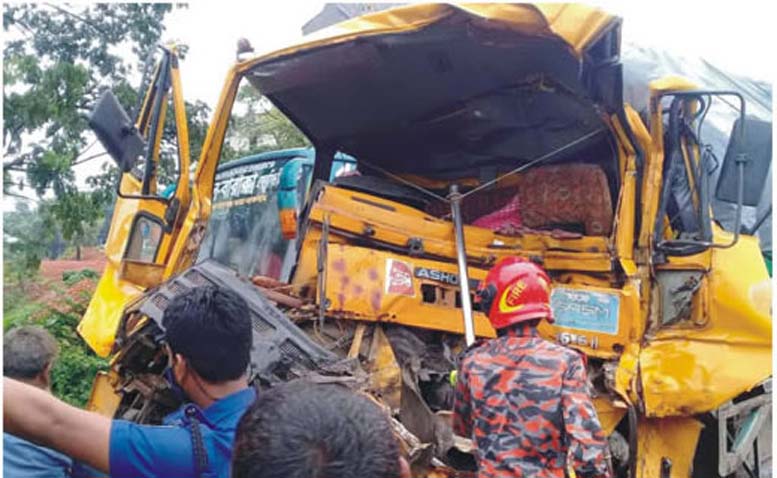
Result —
[[96, 141], [86, 114], [107, 87], [133, 109], [130, 81], [156, 49], [171, 10], [153, 3], [4, 6], [3, 191], [53, 195], [53, 217], [79, 250], [100, 203], [112, 198], [105, 189], [76, 188], [73, 166], [104, 155], [90, 151]]

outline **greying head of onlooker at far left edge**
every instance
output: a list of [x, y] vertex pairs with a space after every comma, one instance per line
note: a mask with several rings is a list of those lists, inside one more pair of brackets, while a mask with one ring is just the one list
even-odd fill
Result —
[[3, 337], [3, 375], [48, 389], [58, 352], [57, 341], [41, 327], [11, 329]]

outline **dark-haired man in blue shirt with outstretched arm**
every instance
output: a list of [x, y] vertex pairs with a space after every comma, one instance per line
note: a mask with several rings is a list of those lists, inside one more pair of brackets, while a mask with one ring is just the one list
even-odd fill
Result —
[[4, 379], [6, 430], [113, 478], [228, 477], [235, 428], [255, 399], [248, 305], [229, 290], [198, 287], [173, 299], [162, 322], [169, 380], [191, 401], [163, 426], [110, 420]]

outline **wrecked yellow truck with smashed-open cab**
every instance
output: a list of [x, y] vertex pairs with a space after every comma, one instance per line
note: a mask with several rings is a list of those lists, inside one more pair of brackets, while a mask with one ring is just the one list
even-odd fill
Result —
[[[757, 202], [771, 125], [749, 118], [737, 92], [679, 77], [652, 82], [638, 113], [623, 100], [620, 28], [579, 4], [411, 5], [239, 57], [191, 178], [178, 58], [165, 48], [137, 117], [107, 94], [91, 118], [122, 176], [108, 265], [79, 325], [112, 355], [90, 406], [152, 423], [174, 407], [162, 312], [217, 283], [251, 305], [256, 386], [307, 377], [367, 391], [418, 476], [466, 476], [474, 460], [450, 429], [450, 372], [467, 342], [494, 335], [474, 287], [519, 255], [553, 279], [556, 323], [542, 333], [587, 356], [617, 476], [757, 476], [770, 453], [758, 439], [771, 408], [769, 276], [741, 216], [724, 230], [710, 200], [740, 212]], [[315, 146], [309, 185], [287, 168], [293, 158], [217, 180], [241, 84]], [[721, 104], [737, 113], [718, 159], [699, 132]], [[169, 107], [184, 173], [165, 197]], [[341, 154], [358, 174], [335, 177]], [[298, 182], [292, 210], [278, 199], [284, 173]], [[277, 210], [257, 224], [283, 230], [273, 252], [288, 267], [238, 275], [198, 261], [211, 215], [254, 203]]]

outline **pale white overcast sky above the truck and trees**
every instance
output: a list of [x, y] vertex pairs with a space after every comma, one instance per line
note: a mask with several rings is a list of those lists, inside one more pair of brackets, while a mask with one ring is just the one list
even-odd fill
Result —
[[[773, 81], [775, 7], [771, 2], [591, 2], [623, 18], [623, 41], [703, 57], [724, 70]], [[181, 63], [184, 96], [211, 108], [218, 100], [237, 40], [247, 38], [256, 53], [270, 52], [302, 38], [302, 25], [323, 2], [246, 2], [196, 0], [166, 18], [163, 40], [189, 46]], [[703, 8], [702, 8], [703, 6]], [[768, 10], [768, 11], [767, 11]], [[99, 172], [102, 162], [76, 169], [80, 184]], [[8, 210], [4, 204], [4, 210]]]

